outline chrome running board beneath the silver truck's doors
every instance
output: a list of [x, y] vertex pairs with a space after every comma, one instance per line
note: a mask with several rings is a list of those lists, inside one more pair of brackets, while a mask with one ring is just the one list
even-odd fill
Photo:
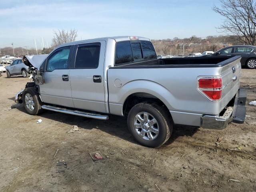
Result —
[[107, 115], [94, 114], [94, 113], [82, 112], [82, 111], [77, 111], [77, 110], [70, 110], [70, 109], [59, 108], [59, 107], [54, 107], [54, 106], [50, 106], [50, 105], [42, 105], [41, 108], [50, 110], [50, 111], [66, 113], [66, 114], [70, 114], [70, 115], [77, 115], [77, 116], [100, 119], [100, 120], [108, 120]]

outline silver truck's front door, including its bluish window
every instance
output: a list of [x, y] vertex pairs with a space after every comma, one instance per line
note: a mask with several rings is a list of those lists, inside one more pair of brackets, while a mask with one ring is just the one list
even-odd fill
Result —
[[70, 60], [74, 46], [55, 50], [46, 60], [40, 95], [45, 103], [74, 107], [70, 86]]

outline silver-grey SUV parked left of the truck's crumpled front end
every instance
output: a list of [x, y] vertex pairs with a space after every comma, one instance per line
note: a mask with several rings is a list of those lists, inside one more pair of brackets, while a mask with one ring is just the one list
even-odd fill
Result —
[[26, 66], [22, 59], [16, 59], [12, 64], [6, 66], [6, 75], [7, 78], [10, 78], [12, 75], [22, 75], [23, 77], [28, 77], [28, 66]]

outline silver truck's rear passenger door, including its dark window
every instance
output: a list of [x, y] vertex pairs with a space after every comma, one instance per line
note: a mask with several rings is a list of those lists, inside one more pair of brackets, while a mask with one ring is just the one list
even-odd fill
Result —
[[106, 112], [104, 102], [105, 41], [76, 45], [70, 69], [75, 108]]

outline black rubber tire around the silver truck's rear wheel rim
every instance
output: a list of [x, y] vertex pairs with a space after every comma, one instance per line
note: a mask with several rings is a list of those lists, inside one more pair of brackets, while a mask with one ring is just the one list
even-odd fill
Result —
[[[152, 115], [157, 123], [158, 123], [158, 136], [156, 136], [153, 140], [145, 140], [139, 133], [136, 132], [134, 127], [134, 120], [137, 114], [146, 112]], [[134, 136], [137, 142], [147, 147], [158, 147], [164, 144], [172, 134], [172, 118], [170, 116], [170, 112], [166, 110], [164, 107], [159, 106], [158, 104], [150, 104], [150, 103], [139, 103], [136, 104], [128, 114], [128, 128], [131, 134]], [[146, 135], [146, 134], [145, 134]]]

